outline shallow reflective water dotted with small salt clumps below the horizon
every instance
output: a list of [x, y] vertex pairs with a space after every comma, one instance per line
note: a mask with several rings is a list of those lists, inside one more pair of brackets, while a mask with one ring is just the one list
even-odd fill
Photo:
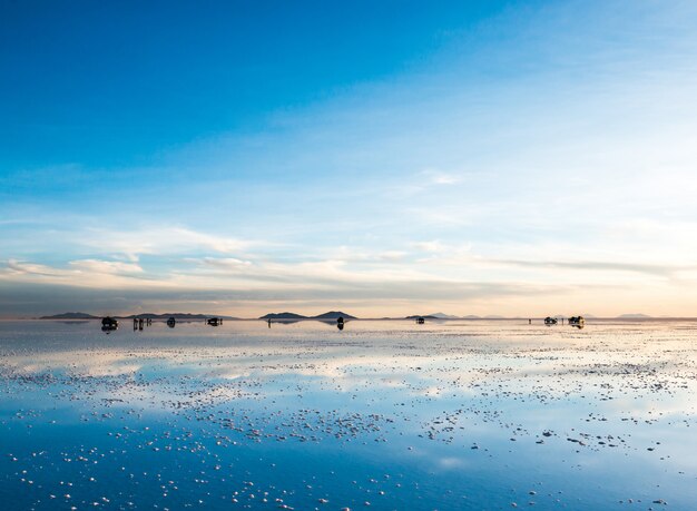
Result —
[[0, 507], [695, 510], [696, 338], [0, 322]]

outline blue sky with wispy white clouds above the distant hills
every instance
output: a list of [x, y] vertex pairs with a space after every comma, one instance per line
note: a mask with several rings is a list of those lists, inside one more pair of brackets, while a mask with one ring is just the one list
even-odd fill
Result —
[[0, 317], [697, 316], [696, 26], [0, 0]]

